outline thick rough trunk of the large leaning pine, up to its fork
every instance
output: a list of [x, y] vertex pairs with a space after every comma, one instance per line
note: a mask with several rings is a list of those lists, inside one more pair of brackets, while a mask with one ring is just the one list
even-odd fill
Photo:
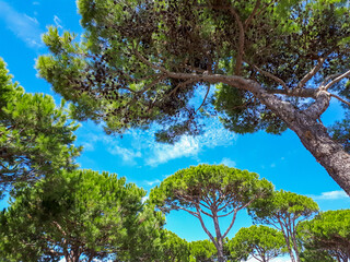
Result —
[[331, 140], [327, 129], [317, 121], [329, 106], [330, 96], [327, 92], [319, 91], [315, 95], [315, 103], [307, 109], [300, 110], [289, 102], [267, 93], [257, 83], [241, 88], [252, 92], [282, 119], [329, 176], [350, 195], [350, 155], [341, 144]]

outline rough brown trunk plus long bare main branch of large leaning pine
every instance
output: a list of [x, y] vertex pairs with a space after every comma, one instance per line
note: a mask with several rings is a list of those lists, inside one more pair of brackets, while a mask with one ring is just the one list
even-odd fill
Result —
[[[147, 63], [151, 64], [148, 61]], [[339, 187], [350, 195], [350, 154], [343, 150], [341, 144], [331, 140], [327, 129], [317, 121], [329, 106], [330, 94], [326, 91], [327, 86], [324, 88], [267, 91], [257, 82], [236, 75], [175, 73], [160, 67], [153, 66], [153, 68], [171, 79], [205, 81], [212, 84], [224, 83], [253, 93], [296, 133], [305, 148], [311, 152]], [[312, 97], [315, 103], [306, 110], [300, 110], [289, 102], [280, 99], [273, 93]]]

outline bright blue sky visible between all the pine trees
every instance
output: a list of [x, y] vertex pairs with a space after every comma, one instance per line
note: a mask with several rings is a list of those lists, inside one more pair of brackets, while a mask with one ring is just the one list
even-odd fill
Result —
[[[40, 35], [48, 25], [81, 33], [79, 20], [72, 0], [0, 0], [0, 57], [26, 92], [50, 94], [59, 102], [60, 97], [36, 76], [34, 69], [35, 59], [47, 52]], [[339, 104], [332, 102], [323, 121], [331, 123], [341, 116]], [[323, 211], [350, 207], [350, 199], [291, 131], [282, 135], [238, 135], [212, 119], [203, 135], [184, 136], [175, 145], [155, 143], [152, 131], [130, 130], [122, 139], [107, 136], [89, 121], [82, 122], [75, 134], [77, 145], [84, 146], [78, 158], [81, 168], [117, 172], [145, 190], [190, 165], [225, 164], [257, 172], [277, 189], [310, 195]], [[166, 219], [166, 227], [182, 238], [207, 238], [199, 222], [187, 214], [172, 212]], [[243, 211], [229, 237], [250, 224]], [[225, 225], [228, 221], [222, 221], [223, 228]]]

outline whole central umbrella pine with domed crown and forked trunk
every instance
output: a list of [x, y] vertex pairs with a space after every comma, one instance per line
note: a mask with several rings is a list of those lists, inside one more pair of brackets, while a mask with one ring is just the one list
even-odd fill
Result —
[[[271, 193], [273, 186], [258, 175], [224, 165], [199, 165], [182, 169], [164, 179], [151, 190], [150, 201], [167, 213], [183, 210], [197, 217], [201, 227], [214, 243], [218, 261], [224, 261], [224, 238], [231, 230], [237, 213], [255, 200]], [[214, 234], [205, 224], [209, 216], [214, 225]], [[222, 231], [219, 219], [231, 217], [230, 225]]]

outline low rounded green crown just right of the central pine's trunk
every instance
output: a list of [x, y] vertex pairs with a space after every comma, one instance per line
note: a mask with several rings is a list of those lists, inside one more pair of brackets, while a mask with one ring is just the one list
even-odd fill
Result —
[[287, 252], [282, 233], [267, 226], [241, 228], [228, 243], [230, 254], [237, 261], [254, 258], [268, 262]]

